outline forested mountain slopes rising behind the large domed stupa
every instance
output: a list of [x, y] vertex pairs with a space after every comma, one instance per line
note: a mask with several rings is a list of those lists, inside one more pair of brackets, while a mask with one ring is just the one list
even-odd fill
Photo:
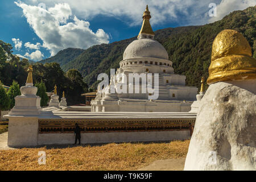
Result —
[[[175, 73], [187, 76], [187, 85], [198, 87], [201, 76], [208, 77], [212, 43], [222, 30], [230, 28], [241, 32], [249, 41], [253, 56], [256, 57], [255, 18], [256, 6], [243, 11], [234, 11], [222, 20], [204, 26], [158, 30], [155, 31], [155, 39], [166, 48], [169, 59], [174, 63]], [[135, 39], [134, 37], [90, 47], [61, 68], [64, 71], [71, 68], [78, 69], [85, 77], [85, 82], [96, 89], [98, 74], [104, 72], [109, 74], [110, 68], [117, 69], [123, 51]]]

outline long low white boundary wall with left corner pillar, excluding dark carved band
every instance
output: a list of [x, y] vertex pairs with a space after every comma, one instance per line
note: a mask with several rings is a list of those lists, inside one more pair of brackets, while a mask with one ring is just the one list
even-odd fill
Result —
[[[79, 117], [78, 117], [79, 114]], [[40, 115], [22, 116], [5, 115], [9, 118], [8, 146], [32, 147], [44, 144], [73, 144], [74, 133], [43, 133], [39, 134], [39, 119], [180, 119], [194, 118], [195, 113], [91, 113], [61, 111], [55, 107], [47, 107]], [[112, 142], [156, 142], [168, 140], [190, 139], [189, 130], [179, 131], [134, 131], [134, 132], [106, 132], [106, 133], [81, 133], [81, 143], [112, 143]]]

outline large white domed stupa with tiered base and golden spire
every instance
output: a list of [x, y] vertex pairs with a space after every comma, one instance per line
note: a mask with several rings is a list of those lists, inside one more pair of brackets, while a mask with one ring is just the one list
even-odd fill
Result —
[[[143, 14], [143, 24], [138, 35], [138, 40], [134, 40], [127, 46], [123, 53], [123, 60], [120, 61], [120, 68], [111, 79], [110, 85], [104, 90], [98, 89], [97, 97], [91, 102], [92, 111], [136, 111], [136, 112], [188, 112], [191, 104], [196, 100], [197, 88], [185, 86], [184, 75], [177, 75], [172, 68], [172, 61], [168, 60], [166, 49], [156, 40], [150, 25], [150, 11], [148, 6]], [[156, 76], [158, 73], [159, 78]], [[129, 79], [129, 74], [134, 75]], [[139, 93], [133, 93], [131, 89], [131, 79], [136, 79], [136, 75], [141, 75], [139, 81]], [[138, 76], [137, 75], [137, 76]], [[152, 77], [148, 77], [151, 76]], [[142, 77], [146, 82], [142, 81]], [[110, 93], [110, 88], [117, 90], [118, 83], [126, 84], [126, 93]], [[154, 93], [142, 92], [143, 88], [152, 85], [153, 89], [159, 92], [157, 98], [150, 98]]]

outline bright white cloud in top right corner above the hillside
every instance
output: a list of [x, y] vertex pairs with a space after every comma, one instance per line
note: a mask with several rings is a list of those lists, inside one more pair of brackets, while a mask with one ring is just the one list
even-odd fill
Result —
[[249, 6], [255, 5], [256, 0], [222, 0], [221, 3], [217, 5], [217, 16], [210, 18], [209, 22], [220, 20], [234, 10], [244, 10]]

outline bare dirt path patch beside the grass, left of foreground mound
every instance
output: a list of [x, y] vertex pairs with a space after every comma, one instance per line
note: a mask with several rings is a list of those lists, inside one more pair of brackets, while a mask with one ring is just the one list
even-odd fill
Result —
[[183, 171], [186, 158], [156, 160], [138, 171]]

